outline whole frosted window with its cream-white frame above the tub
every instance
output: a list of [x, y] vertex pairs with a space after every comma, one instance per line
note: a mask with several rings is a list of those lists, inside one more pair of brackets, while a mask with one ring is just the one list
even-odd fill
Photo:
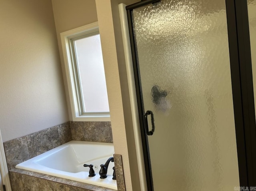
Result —
[[98, 22], [60, 36], [73, 121], [110, 121]]

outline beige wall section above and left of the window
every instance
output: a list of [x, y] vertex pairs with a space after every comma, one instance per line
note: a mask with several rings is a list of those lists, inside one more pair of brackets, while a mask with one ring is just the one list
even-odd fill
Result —
[[64, 84], [68, 102], [69, 119], [72, 120], [70, 98], [68, 97], [67, 78], [64, 69], [64, 59], [60, 40], [60, 33], [90, 24], [97, 21], [95, 0], [52, 0], [58, 46], [60, 50], [60, 61], [64, 76]]

